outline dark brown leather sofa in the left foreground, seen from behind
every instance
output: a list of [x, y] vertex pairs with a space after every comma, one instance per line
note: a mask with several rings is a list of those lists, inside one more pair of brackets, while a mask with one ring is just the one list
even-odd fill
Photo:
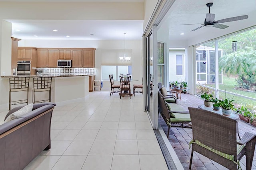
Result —
[[[23, 117], [0, 125], [0, 170], [22, 170], [51, 148], [50, 125], [56, 104], [34, 104]], [[23, 106], [10, 110], [5, 119]]]

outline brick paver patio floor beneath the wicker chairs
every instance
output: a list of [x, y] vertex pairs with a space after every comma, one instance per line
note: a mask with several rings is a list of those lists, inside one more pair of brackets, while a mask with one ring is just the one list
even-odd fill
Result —
[[[188, 107], [198, 107], [198, 105], [203, 104], [203, 100], [192, 96], [190, 94], [182, 94], [182, 100], [179, 100], [179, 105], [188, 110]], [[161, 116], [158, 117], [158, 121], [162, 126], [162, 129], [167, 134], [168, 127], [162, 119]], [[246, 131], [251, 133], [256, 133], [256, 127], [246, 123], [242, 120], [238, 122], [240, 137], [244, 135]], [[191, 149], [189, 149], [188, 143], [192, 139], [192, 129], [171, 127], [169, 141], [175, 150], [182, 166], [185, 170], [188, 170]], [[243, 170], [246, 170], [246, 158], [245, 156], [241, 159], [240, 165]], [[194, 152], [192, 161], [192, 170], [228, 170], [224, 166], [206, 158], [205, 156]], [[252, 162], [252, 170], [256, 170], [256, 152], [254, 152], [254, 160]]]

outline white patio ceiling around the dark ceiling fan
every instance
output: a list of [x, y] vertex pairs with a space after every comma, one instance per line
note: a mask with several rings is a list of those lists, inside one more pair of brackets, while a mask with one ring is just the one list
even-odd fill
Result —
[[[204, 23], [208, 8], [206, 4], [213, 2], [210, 13], [215, 14], [215, 21], [235, 16], [248, 15], [248, 19], [222, 23], [228, 25], [226, 29], [215, 27], [202, 27], [191, 31], [201, 25], [180, 25], [190, 23]], [[256, 25], [256, 1], [255, 0], [176, 0], [168, 12], [167, 22], [170, 39], [187, 40], [204, 35], [225, 35], [240, 29]], [[184, 35], [180, 35], [184, 33]]]

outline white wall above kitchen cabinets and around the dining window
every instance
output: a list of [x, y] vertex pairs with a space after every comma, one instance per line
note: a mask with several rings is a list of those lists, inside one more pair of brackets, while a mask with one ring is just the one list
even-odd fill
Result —
[[[116, 53], [124, 50], [123, 40], [21, 40], [19, 47], [46, 47], [46, 48], [96, 48], [95, 51], [95, 80], [101, 80], [101, 61], [106, 60], [102, 50], [112, 50]], [[132, 51], [132, 72], [134, 80], [142, 78], [142, 40], [126, 40], [126, 50]], [[119, 56], [118, 56], [119, 57]], [[117, 58], [119, 60], [119, 58]], [[119, 62], [119, 61], [118, 61]], [[120, 63], [123, 64], [123, 63]], [[134, 82], [137, 83], [137, 82]], [[138, 84], [138, 83], [137, 83]], [[110, 82], [103, 82], [103, 87], [110, 87]]]

